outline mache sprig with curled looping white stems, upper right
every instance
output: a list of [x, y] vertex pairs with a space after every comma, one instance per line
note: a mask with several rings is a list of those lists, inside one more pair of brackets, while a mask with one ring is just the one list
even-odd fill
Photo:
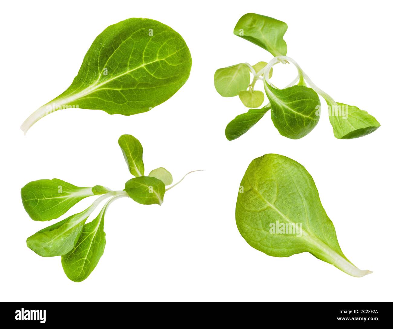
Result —
[[[266, 49], [274, 58], [268, 63], [240, 63], [215, 72], [217, 92], [223, 97], [239, 96], [244, 106], [250, 108], [227, 125], [226, 138], [230, 141], [237, 139], [250, 130], [268, 110], [271, 110], [272, 121], [281, 135], [291, 139], [304, 137], [314, 129], [320, 118], [318, 94], [327, 102], [329, 121], [336, 138], [352, 139], [374, 132], [380, 126], [375, 117], [356, 106], [334, 101], [311, 81], [295, 60], [286, 56], [283, 36], [287, 27], [280, 20], [254, 13], [242, 16], [237, 22], [233, 30], [235, 35]], [[297, 77], [284, 89], [270, 82], [272, 67], [278, 63], [292, 63], [298, 70]], [[263, 104], [264, 93], [255, 90], [258, 80], [263, 81], [269, 101], [262, 108], [259, 107]]]

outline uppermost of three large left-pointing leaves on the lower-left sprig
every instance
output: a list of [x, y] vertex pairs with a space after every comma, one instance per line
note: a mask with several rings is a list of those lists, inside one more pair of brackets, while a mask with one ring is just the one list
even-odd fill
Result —
[[91, 187], [78, 187], [57, 178], [30, 182], [20, 194], [23, 207], [35, 221], [58, 218], [85, 197], [94, 195]]

